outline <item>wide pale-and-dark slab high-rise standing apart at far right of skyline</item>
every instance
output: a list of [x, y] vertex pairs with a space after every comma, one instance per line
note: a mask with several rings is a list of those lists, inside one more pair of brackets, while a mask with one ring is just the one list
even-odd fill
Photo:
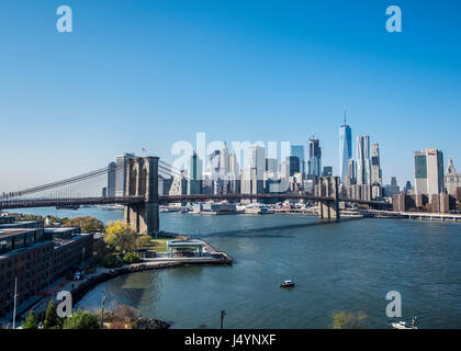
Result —
[[415, 151], [415, 191], [426, 195], [443, 192], [443, 154], [436, 148]]

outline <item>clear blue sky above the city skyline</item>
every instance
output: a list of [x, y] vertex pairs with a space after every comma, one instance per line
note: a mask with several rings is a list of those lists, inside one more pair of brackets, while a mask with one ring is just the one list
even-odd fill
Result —
[[[56, 31], [56, 9], [74, 32]], [[397, 4], [403, 33], [385, 31]], [[461, 170], [461, 2], [24, 1], [0, 3], [0, 191], [103, 167], [172, 161], [176, 140], [321, 138], [338, 171], [342, 106], [380, 144], [384, 181], [413, 151]], [[446, 161], [447, 163], [447, 161]]]

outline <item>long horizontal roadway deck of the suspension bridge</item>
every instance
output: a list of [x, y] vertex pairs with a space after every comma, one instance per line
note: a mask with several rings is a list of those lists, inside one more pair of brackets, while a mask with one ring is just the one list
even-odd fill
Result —
[[[196, 195], [159, 195], [159, 204], [202, 202], [202, 201], [239, 201], [239, 200], [307, 200], [315, 202], [333, 203], [334, 197], [314, 196], [300, 193], [289, 194], [196, 194]], [[364, 201], [353, 199], [338, 199], [339, 202], [349, 202], [369, 205], [371, 207], [389, 208], [392, 204], [379, 201]], [[0, 200], [0, 210], [29, 208], [29, 207], [56, 207], [56, 206], [79, 206], [79, 205], [109, 205], [121, 204], [126, 206], [144, 204], [144, 196], [117, 196], [117, 197], [75, 197], [75, 199], [11, 199]]]

